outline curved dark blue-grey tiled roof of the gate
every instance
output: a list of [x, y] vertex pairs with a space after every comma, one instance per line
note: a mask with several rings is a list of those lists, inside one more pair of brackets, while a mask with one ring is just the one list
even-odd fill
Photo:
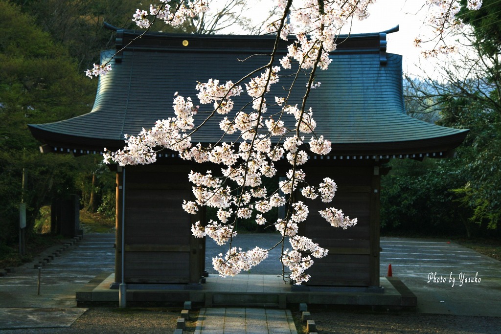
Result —
[[[118, 31], [117, 49], [136, 36], [134, 31]], [[402, 57], [385, 53], [385, 36], [340, 37], [339, 42], [344, 42], [330, 56], [333, 61], [329, 69], [317, 71], [322, 86], [313, 90], [308, 100], [317, 121], [316, 132], [332, 141], [334, 156], [444, 154], [461, 143], [466, 131], [406, 115]], [[183, 46], [183, 41], [188, 45]], [[157, 119], [172, 115], [174, 92], [192, 96], [197, 104], [197, 81], [213, 78], [235, 82], [268, 62], [264, 54], [248, 57], [269, 52], [273, 41], [272, 36], [147, 34], [111, 61], [113, 70], [99, 79], [90, 113], [30, 125], [30, 129], [35, 137], [58, 150], [121, 148], [124, 134], [136, 134]], [[103, 60], [113, 53], [103, 52]], [[290, 73], [280, 72], [284, 77], [274, 85], [272, 94], [286, 94], [282, 87], [290, 82], [286, 77]], [[306, 75], [301, 80], [290, 100], [298, 104], [304, 95]], [[235, 105], [242, 107], [248, 101], [245, 97], [235, 99]], [[220, 135], [218, 120], [209, 122], [193, 136], [193, 142], [216, 142]]]

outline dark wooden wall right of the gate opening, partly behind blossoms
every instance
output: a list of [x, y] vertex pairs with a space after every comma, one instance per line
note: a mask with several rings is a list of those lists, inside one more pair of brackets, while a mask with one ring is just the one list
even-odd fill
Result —
[[[379, 168], [372, 160], [331, 160], [330, 164], [319, 161], [314, 167], [305, 168], [313, 184], [318, 185], [328, 176], [338, 185], [331, 203], [305, 200], [310, 214], [300, 234], [329, 249], [326, 257], [314, 259], [315, 264], [307, 271], [312, 276], [308, 285], [378, 286]], [[356, 217], [357, 225], [346, 230], [332, 227], [318, 213], [326, 207]]]

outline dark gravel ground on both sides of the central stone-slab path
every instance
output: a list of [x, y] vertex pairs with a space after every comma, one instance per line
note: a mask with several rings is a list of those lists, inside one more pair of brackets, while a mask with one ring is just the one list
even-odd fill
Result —
[[[312, 319], [317, 324], [317, 332], [331, 333], [444, 333], [444, 334], [499, 334], [501, 317], [456, 316], [423, 314], [411, 311], [371, 312], [342, 311], [324, 308], [311, 308]], [[306, 333], [302, 326], [300, 313], [296, 317], [298, 333]], [[90, 308], [71, 327], [35, 328], [0, 330], [2, 334], [21, 333], [172, 333], [179, 317], [179, 309], [167, 308]], [[196, 325], [196, 312], [187, 322], [186, 332], [193, 332]]]

